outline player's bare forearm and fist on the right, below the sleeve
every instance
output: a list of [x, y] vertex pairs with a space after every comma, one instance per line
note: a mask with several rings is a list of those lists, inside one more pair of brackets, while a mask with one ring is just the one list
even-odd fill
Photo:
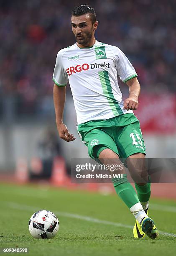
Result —
[[137, 77], [134, 77], [126, 82], [129, 87], [129, 97], [124, 101], [124, 110], [138, 109], [138, 97], [140, 94], [140, 84]]

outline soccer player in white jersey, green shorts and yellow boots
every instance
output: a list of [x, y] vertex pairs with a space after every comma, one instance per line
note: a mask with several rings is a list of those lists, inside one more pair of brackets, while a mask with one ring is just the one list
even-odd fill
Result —
[[[61, 49], [54, 68], [54, 107], [60, 138], [74, 141], [63, 123], [66, 84], [69, 81], [77, 113], [77, 129], [89, 156], [102, 164], [114, 164], [120, 158], [144, 159], [145, 146], [138, 119], [140, 84], [134, 67], [116, 46], [96, 41], [98, 21], [88, 5], [74, 8], [71, 26], [76, 43]], [[122, 101], [117, 75], [129, 87], [129, 97]], [[132, 168], [133, 169], [133, 168]], [[124, 173], [124, 171], [123, 171]], [[123, 178], [112, 179], [117, 195], [133, 213], [135, 238], [158, 236], [154, 221], [148, 217], [150, 182], [135, 183], [135, 189]]]

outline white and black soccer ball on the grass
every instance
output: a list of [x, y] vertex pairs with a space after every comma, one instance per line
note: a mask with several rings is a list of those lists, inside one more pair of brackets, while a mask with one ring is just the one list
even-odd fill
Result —
[[59, 220], [53, 212], [35, 212], [29, 220], [29, 232], [35, 238], [53, 238], [59, 230]]

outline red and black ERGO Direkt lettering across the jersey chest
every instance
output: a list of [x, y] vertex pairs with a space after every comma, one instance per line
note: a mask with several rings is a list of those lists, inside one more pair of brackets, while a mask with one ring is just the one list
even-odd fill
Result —
[[87, 64], [84, 63], [82, 65], [77, 65], [76, 67], [69, 67], [68, 69], [66, 69], [66, 72], [69, 76], [71, 76], [71, 74], [74, 74], [76, 72], [81, 72], [82, 70], [86, 71], [88, 69], [95, 69], [95, 68], [110, 68], [110, 64], [106, 63], [104, 61], [104, 63], [92, 63], [92, 64]]

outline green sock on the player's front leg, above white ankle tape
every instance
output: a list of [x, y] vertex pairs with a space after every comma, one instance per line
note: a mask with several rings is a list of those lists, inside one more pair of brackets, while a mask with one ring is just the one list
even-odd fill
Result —
[[112, 182], [114, 183], [114, 188], [117, 195], [122, 199], [123, 202], [125, 202], [128, 208], [131, 208], [133, 205], [139, 202], [135, 189], [128, 182], [127, 174], [123, 174], [122, 179], [112, 179]]

